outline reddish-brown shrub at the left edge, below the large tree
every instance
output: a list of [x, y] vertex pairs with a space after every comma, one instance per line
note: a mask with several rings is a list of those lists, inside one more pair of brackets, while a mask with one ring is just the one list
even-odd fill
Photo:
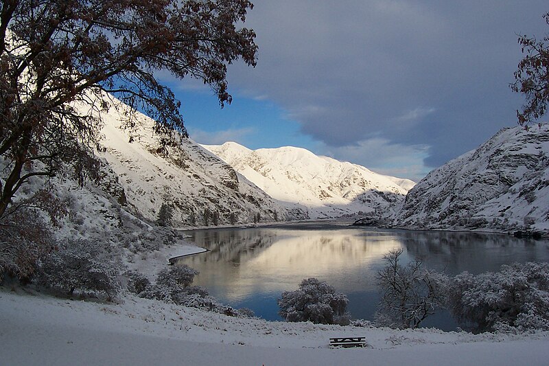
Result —
[[54, 249], [53, 235], [37, 211], [18, 209], [0, 220], [0, 283], [4, 277], [29, 282], [36, 262]]

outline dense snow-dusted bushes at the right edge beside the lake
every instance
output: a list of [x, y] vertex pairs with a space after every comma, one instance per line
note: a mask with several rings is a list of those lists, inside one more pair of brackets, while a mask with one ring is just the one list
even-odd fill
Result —
[[452, 279], [449, 308], [462, 328], [477, 332], [549, 330], [549, 263], [461, 273]]

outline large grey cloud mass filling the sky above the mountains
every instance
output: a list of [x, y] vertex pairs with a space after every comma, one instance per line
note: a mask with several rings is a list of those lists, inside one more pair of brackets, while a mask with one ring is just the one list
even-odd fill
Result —
[[433, 167], [516, 123], [516, 34], [546, 29], [546, 0], [254, 3], [258, 64], [233, 65], [232, 87], [328, 146], [426, 144]]

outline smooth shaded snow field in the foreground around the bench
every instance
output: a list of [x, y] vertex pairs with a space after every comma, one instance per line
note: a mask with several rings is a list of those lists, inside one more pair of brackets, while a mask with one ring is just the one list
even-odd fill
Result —
[[[549, 332], [469, 334], [235, 319], [124, 297], [0, 287], [0, 365], [546, 365]], [[333, 336], [369, 347], [334, 350]]]

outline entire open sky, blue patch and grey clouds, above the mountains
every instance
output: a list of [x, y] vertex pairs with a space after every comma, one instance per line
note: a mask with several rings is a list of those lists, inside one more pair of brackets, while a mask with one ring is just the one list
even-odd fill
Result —
[[231, 105], [170, 82], [191, 138], [299, 146], [414, 181], [517, 126], [518, 34], [549, 34], [546, 0], [253, 3], [257, 67], [229, 67]]

